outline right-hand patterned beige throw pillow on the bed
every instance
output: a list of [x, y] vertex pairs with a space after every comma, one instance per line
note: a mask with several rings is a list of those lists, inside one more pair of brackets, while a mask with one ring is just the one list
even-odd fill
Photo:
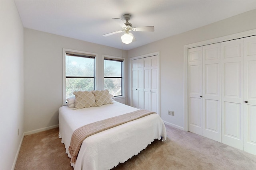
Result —
[[112, 104], [108, 90], [95, 90], [93, 91], [93, 94], [95, 96], [97, 106]]

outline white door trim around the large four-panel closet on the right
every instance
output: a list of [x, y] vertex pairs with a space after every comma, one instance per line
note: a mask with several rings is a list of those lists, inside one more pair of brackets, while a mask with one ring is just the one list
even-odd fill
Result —
[[188, 49], [256, 35], [256, 29], [184, 45], [184, 131], [188, 131]]

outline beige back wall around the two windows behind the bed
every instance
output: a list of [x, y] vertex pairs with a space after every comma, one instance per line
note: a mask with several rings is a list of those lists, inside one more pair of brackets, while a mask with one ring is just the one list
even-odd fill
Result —
[[[122, 50], [24, 29], [24, 131], [58, 125], [58, 109], [62, 106], [62, 49], [97, 53], [96, 89], [103, 89], [102, 55], [122, 56]], [[123, 51], [123, 57], [127, 52]], [[41, 129], [41, 130], [43, 130]]]

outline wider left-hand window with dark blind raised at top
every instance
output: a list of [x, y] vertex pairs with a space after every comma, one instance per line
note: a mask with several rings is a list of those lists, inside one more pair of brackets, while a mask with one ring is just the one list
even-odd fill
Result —
[[94, 90], [96, 55], [65, 51], [65, 83], [66, 99], [74, 96], [74, 91]]

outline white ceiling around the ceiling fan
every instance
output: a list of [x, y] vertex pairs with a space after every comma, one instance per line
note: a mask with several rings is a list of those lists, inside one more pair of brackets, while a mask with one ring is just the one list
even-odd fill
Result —
[[[23, 26], [118, 49], [133, 49], [172, 35], [256, 9], [256, 0], [15, 0]], [[122, 44], [112, 18], [131, 14], [137, 41]], [[123, 18], [122, 18], [123, 19]]]

